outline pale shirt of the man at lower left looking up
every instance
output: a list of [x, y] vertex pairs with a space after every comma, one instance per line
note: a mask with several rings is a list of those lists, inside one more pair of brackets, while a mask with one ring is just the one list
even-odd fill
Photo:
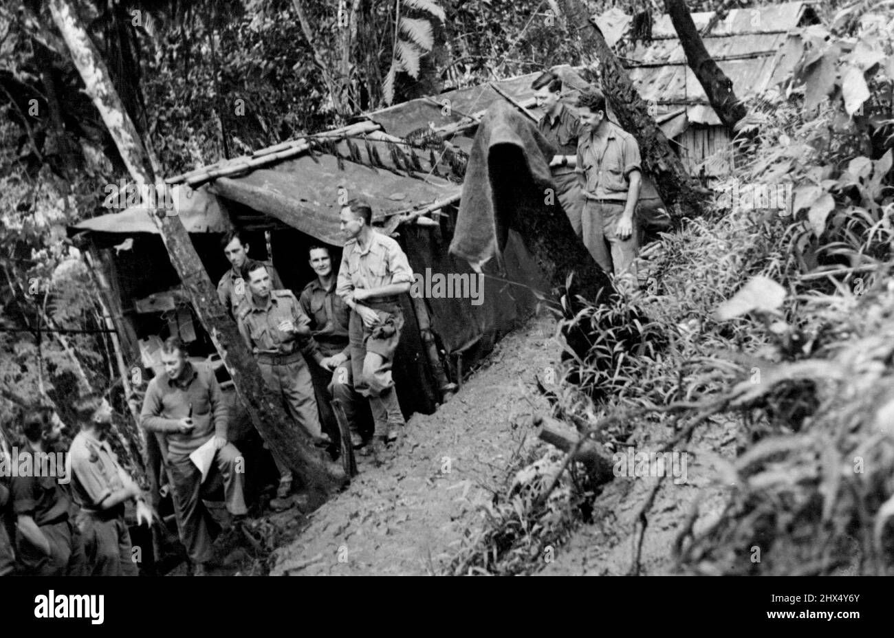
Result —
[[108, 441], [99, 441], [87, 432], [78, 432], [68, 450], [72, 457], [74, 496], [81, 508], [96, 511], [100, 503], [124, 488], [122, 472]]

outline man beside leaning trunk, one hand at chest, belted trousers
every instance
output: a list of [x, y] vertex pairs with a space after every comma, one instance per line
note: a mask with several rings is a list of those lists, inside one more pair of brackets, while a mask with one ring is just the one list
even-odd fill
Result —
[[[323, 361], [310, 336], [310, 320], [291, 290], [271, 290], [266, 264], [251, 262], [246, 274], [250, 294], [239, 308], [237, 321], [242, 339], [257, 355], [257, 366], [267, 387], [283, 398], [294, 422], [304, 428], [315, 445], [329, 445], [332, 441], [320, 427], [314, 385], [304, 358], [307, 355], [316, 363]], [[300, 346], [299, 338], [303, 341]], [[280, 471], [276, 496], [285, 499], [291, 492], [291, 470], [275, 449], [271, 451]]]

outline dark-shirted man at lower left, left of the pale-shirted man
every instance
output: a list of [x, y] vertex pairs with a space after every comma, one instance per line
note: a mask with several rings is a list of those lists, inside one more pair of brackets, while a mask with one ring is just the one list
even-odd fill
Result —
[[[28, 575], [83, 575], [86, 567], [84, 544], [71, 517], [72, 501], [59, 484], [60, 477], [49, 475], [52, 466], [47, 455], [54, 453], [53, 444], [59, 441], [62, 427], [49, 408], [40, 407], [25, 417], [23, 433], [28, 442], [24, 454], [30, 455], [33, 473], [14, 476], [10, 491], [16, 516], [16, 553], [21, 571]], [[57, 466], [56, 474], [59, 471]]]

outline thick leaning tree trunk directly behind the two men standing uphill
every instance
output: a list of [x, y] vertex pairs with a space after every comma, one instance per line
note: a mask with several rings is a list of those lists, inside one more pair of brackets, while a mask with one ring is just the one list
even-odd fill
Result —
[[702, 198], [706, 197], [707, 192], [692, 180], [679, 156], [671, 149], [627, 71], [611, 52], [602, 31], [590, 20], [586, 5], [580, 0], [558, 2], [568, 18], [569, 31], [580, 36], [585, 55], [592, 51], [599, 60], [605, 97], [611, 103], [621, 128], [637, 139], [643, 156], [643, 168], [654, 181], [658, 194], [669, 208], [669, 214], [685, 217], [700, 214]]

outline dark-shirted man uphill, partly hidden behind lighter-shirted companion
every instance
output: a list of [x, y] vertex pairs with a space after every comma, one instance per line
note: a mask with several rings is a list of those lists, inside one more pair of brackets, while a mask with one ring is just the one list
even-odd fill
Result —
[[561, 103], [561, 78], [552, 71], [544, 71], [531, 84], [537, 106], [544, 116], [537, 122], [537, 130], [553, 147], [556, 155], [550, 159], [552, 181], [559, 190], [559, 202], [568, 215], [574, 234], [581, 236], [581, 209], [584, 207], [575, 166], [578, 164], [578, 139], [581, 124], [578, 116]]

